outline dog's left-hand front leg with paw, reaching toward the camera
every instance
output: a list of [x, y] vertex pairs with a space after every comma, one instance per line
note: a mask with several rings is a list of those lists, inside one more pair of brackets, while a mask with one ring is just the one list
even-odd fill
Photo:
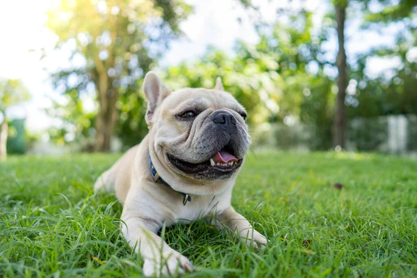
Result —
[[146, 276], [179, 275], [190, 271], [193, 265], [188, 259], [173, 250], [156, 235], [161, 224], [152, 218], [146, 218], [123, 211], [122, 233], [135, 252], [140, 252], [143, 273]]

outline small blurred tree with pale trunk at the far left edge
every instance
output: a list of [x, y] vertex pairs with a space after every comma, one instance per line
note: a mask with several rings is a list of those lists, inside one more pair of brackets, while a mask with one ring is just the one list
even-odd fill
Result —
[[0, 113], [3, 115], [0, 129], [0, 159], [6, 159], [7, 137], [8, 137], [8, 116], [7, 109], [10, 106], [19, 104], [30, 99], [28, 90], [17, 79], [0, 80]]

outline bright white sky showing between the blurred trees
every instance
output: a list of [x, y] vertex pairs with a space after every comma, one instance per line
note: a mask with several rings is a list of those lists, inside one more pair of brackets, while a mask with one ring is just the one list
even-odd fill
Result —
[[[188, 3], [195, 6], [195, 13], [181, 24], [187, 38], [173, 42], [160, 65], [173, 65], [181, 60], [196, 58], [204, 53], [208, 45], [214, 45], [232, 54], [236, 39], [255, 43], [257, 38], [250, 18], [237, 2], [188, 0]], [[58, 95], [47, 79], [49, 72], [67, 64], [67, 56], [53, 51], [56, 37], [42, 29], [46, 20], [45, 11], [50, 3], [50, 0], [0, 1], [0, 76], [22, 79], [31, 92], [31, 101], [9, 110], [10, 117], [27, 117], [26, 126], [30, 131], [41, 131], [58, 124], [42, 111], [49, 106], [48, 97]], [[256, 0], [255, 3], [261, 4], [261, 14], [270, 22], [279, 16], [275, 12], [277, 6], [290, 5], [288, 0]], [[291, 1], [291, 6], [300, 5], [314, 10], [314, 22], [320, 24], [322, 14], [326, 12], [322, 1]], [[241, 23], [238, 22], [238, 17], [242, 19]], [[350, 38], [346, 45], [347, 56], [380, 44], [393, 44], [395, 27], [382, 35], [372, 32], [358, 33], [358, 26], [355, 24], [353, 22], [346, 31], [347, 37]], [[327, 45], [327, 49], [332, 52], [336, 51], [336, 47], [334, 39]], [[48, 57], [41, 61], [42, 48]], [[395, 66], [395, 61], [387, 63], [373, 60], [372, 63], [371, 68], [377, 69], [374, 74]]]

